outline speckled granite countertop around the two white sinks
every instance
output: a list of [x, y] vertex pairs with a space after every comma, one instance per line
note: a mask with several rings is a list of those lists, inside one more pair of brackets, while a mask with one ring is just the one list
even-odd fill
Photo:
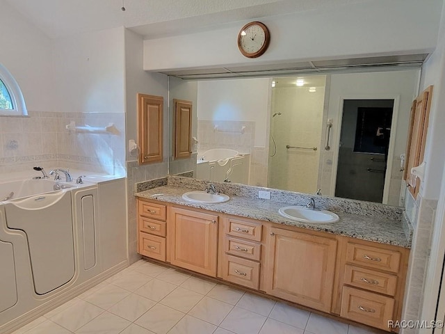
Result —
[[230, 196], [229, 201], [218, 204], [194, 203], [184, 200], [182, 194], [192, 190], [195, 189], [167, 185], [137, 192], [135, 193], [135, 196], [177, 205], [185, 205], [187, 207], [206, 209], [211, 212], [232, 214], [235, 216], [258, 219], [260, 221], [270, 221], [271, 223], [296, 226], [298, 228], [307, 228], [309, 230], [323, 231], [346, 237], [375, 241], [380, 244], [391, 244], [405, 248], [410, 248], [411, 246], [410, 240], [407, 240], [401, 221], [375, 218], [373, 216], [362, 216], [359, 214], [348, 214], [331, 209], [330, 211], [339, 215], [339, 222], [330, 224], [305, 224], [286, 219], [278, 213], [280, 207], [289, 205], [289, 203], [263, 200], [259, 198], [247, 198], [243, 196]]

